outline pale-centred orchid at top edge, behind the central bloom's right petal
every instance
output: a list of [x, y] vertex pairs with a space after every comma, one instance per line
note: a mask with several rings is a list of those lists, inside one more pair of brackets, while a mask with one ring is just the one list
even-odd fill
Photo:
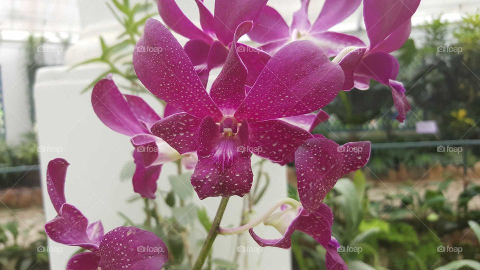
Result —
[[290, 26], [273, 7], [265, 6], [255, 26], [248, 33], [251, 40], [262, 44], [260, 48], [273, 53], [286, 43], [299, 39], [311, 39], [330, 56], [335, 56], [342, 48], [363, 46], [357, 37], [328, 31], [351, 15], [360, 5], [361, 0], [326, 0], [313, 23], [308, 20], [310, 0], [300, 0], [301, 7], [293, 13]]

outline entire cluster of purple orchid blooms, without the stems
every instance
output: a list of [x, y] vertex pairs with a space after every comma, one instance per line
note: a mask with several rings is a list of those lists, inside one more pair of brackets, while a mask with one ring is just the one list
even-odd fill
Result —
[[[397, 119], [404, 120], [410, 106], [395, 80], [398, 61], [389, 53], [408, 38], [419, 0], [364, 0], [368, 45], [329, 31], [361, 0], [326, 0], [313, 23], [307, 16], [310, 1], [301, 0], [290, 26], [267, 0], [216, 0], [213, 14], [202, 0], [195, 2], [201, 29], [174, 0], [158, 0], [168, 28], [149, 19], [133, 53], [139, 80], [167, 103], [163, 118], [140, 97], [121, 94], [110, 77], [92, 91], [100, 120], [131, 137], [134, 191], [154, 198], [161, 164], [182, 158], [194, 167], [191, 184], [200, 199], [243, 196], [252, 184], [252, 154], [280, 164], [294, 161], [300, 202], [265, 219], [283, 236], [263, 239], [249, 232], [262, 246], [288, 248], [293, 231], [303, 231], [325, 247], [328, 269], [345, 269], [331, 236], [333, 214], [322, 201], [341, 176], [366, 164], [370, 143], [340, 146], [311, 131], [328, 119], [321, 108], [340, 90], [367, 89], [370, 79], [391, 88]], [[189, 41], [182, 47], [169, 29]], [[245, 34], [261, 46], [239, 43]], [[207, 91], [210, 70], [219, 66]], [[100, 221], [88, 224], [65, 202], [67, 165], [63, 159], [48, 164], [48, 193], [58, 215], [45, 228], [54, 241], [90, 250], [74, 255], [68, 269], [160, 268], [168, 252], [154, 234], [134, 227], [103, 234]], [[161, 252], [139, 253], [140, 245]]]

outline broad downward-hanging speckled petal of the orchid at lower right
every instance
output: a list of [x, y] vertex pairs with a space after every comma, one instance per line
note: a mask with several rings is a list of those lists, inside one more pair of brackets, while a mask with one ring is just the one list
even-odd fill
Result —
[[327, 138], [306, 140], [295, 151], [295, 167], [300, 201], [314, 212], [341, 174], [338, 144]]

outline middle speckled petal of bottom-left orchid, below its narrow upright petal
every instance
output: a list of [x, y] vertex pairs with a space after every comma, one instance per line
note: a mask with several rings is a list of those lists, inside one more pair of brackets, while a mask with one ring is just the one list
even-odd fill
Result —
[[88, 219], [73, 205], [64, 203], [60, 214], [45, 224], [45, 232], [55, 242], [96, 250], [98, 245], [88, 238]]

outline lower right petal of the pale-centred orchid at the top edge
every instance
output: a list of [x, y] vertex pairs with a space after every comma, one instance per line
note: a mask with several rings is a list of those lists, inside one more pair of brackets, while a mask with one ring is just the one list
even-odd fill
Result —
[[328, 57], [336, 56], [342, 49], [355, 46], [363, 47], [365, 43], [360, 38], [337, 32], [310, 33], [315, 43], [325, 51]]

